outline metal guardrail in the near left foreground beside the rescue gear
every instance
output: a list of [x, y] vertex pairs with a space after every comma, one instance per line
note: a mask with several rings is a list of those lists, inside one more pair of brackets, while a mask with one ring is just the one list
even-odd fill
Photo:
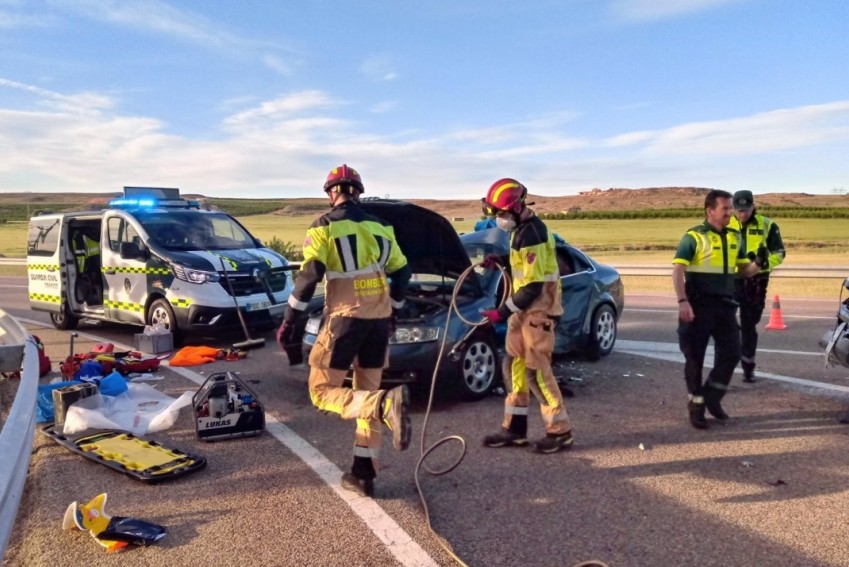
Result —
[[[23, 345], [23, 371], [18, 391], [0, 431], [0, 560], [9, 543], [24, 491], [35, 433], [38, 393], [38, 347], [17, 319], [0, 309], [0, 348]], [[17, 365], [17, 364], [16, 364]]]

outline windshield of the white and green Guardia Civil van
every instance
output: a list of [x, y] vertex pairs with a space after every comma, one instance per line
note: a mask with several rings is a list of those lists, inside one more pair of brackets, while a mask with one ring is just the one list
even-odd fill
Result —
[[258, 242], [224, 213], [150, 211], [136, 214], [151, 240], [166, 250], [238, 250]]

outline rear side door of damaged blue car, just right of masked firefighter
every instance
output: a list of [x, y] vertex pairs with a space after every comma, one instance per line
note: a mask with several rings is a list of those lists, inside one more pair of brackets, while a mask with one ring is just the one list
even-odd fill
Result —
[[571, 246], [557, 247], [557, 264], [563, 290], [563, 315], [557, 325], [554, 350], [564, 352], [583, 340], [584, 325], [596, 288], [595, 268]]

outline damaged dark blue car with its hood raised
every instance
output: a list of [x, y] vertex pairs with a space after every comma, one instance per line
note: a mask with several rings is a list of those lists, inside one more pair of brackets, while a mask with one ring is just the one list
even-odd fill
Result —
[[[461, 236], [442, 215], [403, 201], [364, 199], [360, 205], [393, 225], [413, 273], [406, 307], [390, 339], [383, 386], [408, 384], [414, 390], [429, 390], [444, 343], [436, 378], [440, 393], [466, 400], [487, 396], [501, 383], [499, 353], [506, 326], [472, 328], [458, 313], [451, 314], [447, 328], [446, 320], [452, 299], [459, 315], [472, 322], [481, 320], [481, 310], [497, 304], [504, 286], [501, 271], [470, 268], [489, 254], [506, 256], [509, 235], [493, 228]], [[557, 328], [555, 352], [578, 350], [595, 360], [610, 353], [616, 341], [624, 307], [621, 279], [615, 269], [565, 242], [558, 241], [557, 254], [565, 313]], [[307, 351], [322, 322], [322, 310], [314, 310], [306, 323]]]

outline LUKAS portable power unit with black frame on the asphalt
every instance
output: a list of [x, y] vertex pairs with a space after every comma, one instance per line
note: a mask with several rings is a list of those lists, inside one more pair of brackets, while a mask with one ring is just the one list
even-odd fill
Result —
[[203, 441], [249, 437], [265, 429], [262, 404], [233, 372], [211, 374], [192, 397], [192, 411]]

